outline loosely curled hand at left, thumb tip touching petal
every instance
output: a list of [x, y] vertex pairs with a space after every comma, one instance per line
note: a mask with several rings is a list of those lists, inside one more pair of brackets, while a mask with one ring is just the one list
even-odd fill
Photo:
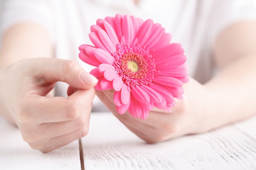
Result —
[[[88, 133], [97, 79], [70, 60], [33, 58], [2, 69], [1, 98], [23, 139], [50, 152]], [[56, 82], [66, 82], [68, 97], [53, 97]]]

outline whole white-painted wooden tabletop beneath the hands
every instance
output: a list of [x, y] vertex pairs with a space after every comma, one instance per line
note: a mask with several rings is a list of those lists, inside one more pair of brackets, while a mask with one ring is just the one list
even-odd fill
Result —
[[256, 117], [200, 135], [146, 144], [110, 113], [93, 113], [90, 132], [80, 144], [74, 141], [47, 154], [31, 149], [19, 130], [0, 117], [0, 170], [23, 169], [256, 170]]

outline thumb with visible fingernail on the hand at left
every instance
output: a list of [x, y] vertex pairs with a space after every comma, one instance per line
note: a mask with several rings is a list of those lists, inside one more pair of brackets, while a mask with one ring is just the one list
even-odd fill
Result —
[[39, 60], [36, 65], [36, 78], [43, 78], [46, 82], [66, 82], [78, 89], [89, 89], [94, 87], [98, 79], [87, 73], [83, 68], [72, 60], [56, 58], [35, 58]]

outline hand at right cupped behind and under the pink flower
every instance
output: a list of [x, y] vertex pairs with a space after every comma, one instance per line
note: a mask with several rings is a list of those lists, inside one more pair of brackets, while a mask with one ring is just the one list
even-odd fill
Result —
[[96, 94], [111, 112], [132, 132], [148, 143], [156, 143], [187, 134], [205, 132], [216, 126], [209, 110], [207, 90], [193, 78], [183, 86], [182, 100], [175, 100], [171, 113], [154, 108], [148, 118], [132, 117], [128, 112], [117, 113], [113, 102], [114, 91], [97, 91]]

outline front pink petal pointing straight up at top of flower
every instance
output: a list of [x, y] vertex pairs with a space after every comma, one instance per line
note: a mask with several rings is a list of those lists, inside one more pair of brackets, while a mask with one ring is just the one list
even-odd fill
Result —
[[126, 43], [132, 43], [132, 40], [134, 39], [134, 29], [132, 25], [132, 20], [128, 15], [124, 15], [122, 28], [123, 36], [126, 40]]

